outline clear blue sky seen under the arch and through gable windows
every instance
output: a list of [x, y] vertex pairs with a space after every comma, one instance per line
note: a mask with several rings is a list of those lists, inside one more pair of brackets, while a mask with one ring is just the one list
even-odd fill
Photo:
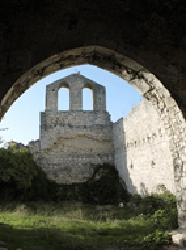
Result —
[[[38, 81], [18, 98], [9, 108], [0, 123], [0, 147], [11, 140], [28, 144], [31, 140], [39, 139], [39, 112], [45, 111], [46, 85], [80, 71], [81, 75], [106, 87], [106, 108], [111, 115], [111, 121], [116, 122], [126, 117], [131, 109], [137, 105], [142, 96], [126, 81], [109, 71], [93, 65], [80, 65], [60, 70]], [[59, 91], [59, 109], [68, 109], [68, 90]], [[92, 109], [92, 94], [88, 89], [83, 91], [83, 109]]]

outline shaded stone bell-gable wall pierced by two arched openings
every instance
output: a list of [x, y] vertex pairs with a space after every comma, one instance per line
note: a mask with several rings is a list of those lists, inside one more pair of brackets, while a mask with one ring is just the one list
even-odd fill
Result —
[[[58, 91], [69, 88], [69, 111], [58, 110]], [[93, 110], [83, 110], [83, 88], [93, 91]], [[41, 112], [41, 135], [30, 151], [48, 177], [58, 183], [83, 182], [90, 163], [114, 164], [113, 124], [106, 112], [105, 87], [72, 74], [46, 86], [46, 111]]]

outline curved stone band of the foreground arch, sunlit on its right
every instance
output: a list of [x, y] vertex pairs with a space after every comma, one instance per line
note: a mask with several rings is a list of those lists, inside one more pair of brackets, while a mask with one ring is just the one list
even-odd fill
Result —
[[[92, 64], [126, 80], [156, 109], [166, 125], [173, 154], [174, 181], [177, 191], [178, 223], [186, 228], [185, 119], [176, 101], [155, 75], [134, 60], [101, 46], [79, 47], [51, 56], [22, 75], [1, 101], [1, 119], [10, 105], [39, 79], [58, 70]], [[21, 87], [20, 87], [21, 86]]]

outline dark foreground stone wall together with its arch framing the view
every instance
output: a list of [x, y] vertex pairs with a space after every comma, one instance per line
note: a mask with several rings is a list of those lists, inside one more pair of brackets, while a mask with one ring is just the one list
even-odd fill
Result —
[[38, 80], [73, 65], [96, 65], [127, 80], [170, 125], [182, 229], [186, 229], [185, 13], [180, 0], [29, 4], [10, 0], [0, 8], [0, 119]]

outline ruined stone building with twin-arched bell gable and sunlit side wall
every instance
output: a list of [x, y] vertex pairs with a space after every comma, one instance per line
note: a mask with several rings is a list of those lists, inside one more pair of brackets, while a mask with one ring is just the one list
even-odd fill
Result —
[[[58, 109], [58, 91], [69, 89], [69, 110]], [[83, 88], [93, 93], [93, 110], [83, 110]], [[80, 74], [46, 86], [40, 138], [29, 143], [34, 159], [58, 183], [85, 181], [90, 163], [115, 164], [128, 191], [145, 196], [163, 184], [175, 194], [169, 136], [147, 100], [113, 123], [105, 87]]]

